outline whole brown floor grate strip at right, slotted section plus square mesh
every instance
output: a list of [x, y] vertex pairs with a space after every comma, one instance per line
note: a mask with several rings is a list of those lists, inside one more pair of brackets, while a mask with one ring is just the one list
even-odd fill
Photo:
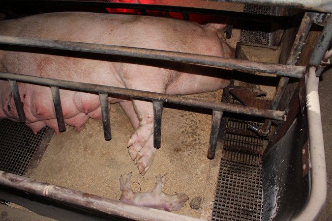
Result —
[[[223, 96], [226, 102], [241, 105], [228, 90]], [[268, 141], [248, 129], [248, 124], [262, 126], [263, 123], [256, 120], [244, 115], [223, 119], [223, 153], [211, 221], [262, 220], [262, 155]]]

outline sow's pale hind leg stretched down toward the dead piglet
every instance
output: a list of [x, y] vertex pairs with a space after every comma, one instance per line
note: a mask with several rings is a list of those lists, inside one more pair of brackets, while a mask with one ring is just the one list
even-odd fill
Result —
[[[169, 73], [163, 69], [128, 65], [125, 73], [122, 72], [122, 81], [126, 88], [165, 93], [167, 82], [169, 82]], [[133, 109], [136, 112], [137, 119], [131, 119], [132, 122], [138, 122], [133, 125], [134, 134], [130, 137], [127, 147], [132, 160], [135, 160], [137, 167], [144, 175], [152, 164], [156, 149], [153, 147], [153, 107], [151, 101], [132, 100]], [[128, 104], [127, 104], [128, 105]], [[128, 109], [128, 107], [127, 107]], [[132, 111], [128, 117], [135, 118]]]

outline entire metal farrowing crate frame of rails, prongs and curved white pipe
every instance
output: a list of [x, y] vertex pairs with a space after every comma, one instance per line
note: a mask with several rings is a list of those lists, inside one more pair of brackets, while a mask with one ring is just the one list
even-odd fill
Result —
[[[226, 1], [226, 0], [218, 0], [218, 1]], [[8, 3], [9, 1], [3, 1], [2, 3]], [[11, 3], [13, 1], [10, 1]], [[22, 1], [17, 1], [22, 2]], [[25, 1], [24, 3], [33, 3], [38, 1]], [[78, 2], [75, 1], [39, 1], [40, 4], [77, 4]], [[260, 110], [256, 108], [249, 108], [249, 107], [240, 107], [237, 105], [230, 105], [225, 103], [218, 103], [218, 102], [207, 102], [205, 100], [200, 99], [190, 99], [184, 98], [182, 96], [172, 96], [172, 95], [165, 95], [159, 93], [152, 93], [146, 91], [137, 91], [125, 88], [116, 88], [110, 86], [103, 86], [103, 85], [96, 85], [96, 84], [87, 84], [87, 83], [75, 83], [75, 82], [68, 82], [68, 81], [61, 81], [55, 79], [45, 79], [40, 77], [33, 77], [33, 76], [26, 76], [26, 75], [19, 75], [13, 73], [5, 73], [0, 72], [0, 78], [6, 79], [10, 83], [10, 87], [13, 93], [15, 105], [18, 110], [18, 115], [20, 121], [25, 121], [24, 111], [21, 106], [19, 91], [17, 88], [17, 81], [18, 82], [25, 82], [25, 83], [36, 83], [42, 85], [48, 85], [51, 87], [52, 96], [54, 100], [54, 105], [56, 107], [56, 115], [58, 120], [58, 125], [60, 131], [64, 130], [64, 123], [63, 123], [63, 116], [61, 113], [60, 106], [60, 93], [59, 88], [71, 88], [71, 89], [80, 89], [85, 88], [86, 91], [97, 92], [99, 93], [99, 98], [102, 106], [102, 116], [103, 116], [103, 126], [104, 126], [104, 134], [105, 139], [111, 138], [111, 130], [109, 126], [109, 119], [107, 118], [107, 97], [108, 94], [117, 94], [117, 95], [125, 95], [128, 97], [135, 97], [135, 98], [142, 98], [148, 99], [153, 102], [153, 110], [154, 110], [154, 139], [156, 140], [154, 143], [155, 147], [160, 146], [160, 119], [161, 119], [161, 112], [163, 107], [163, 102], [171, 102], [177, 104], [183, 104], [188, 106], [194, 107], [204, 107], [213, 110], [213, 119], [212, 119], [212, 128], [211, 128], [211, 141], [210, 141], [210, 148], [209, 148], [209, 158], [213, 158], [214, 151], [215, 151], [215, 142], [216, 142], [216, 135], [218, 134], [218, 128], [220, 124], [220, 119], [222, 116], [223, 111], [230, 111], [236, 113], [243, 113], [243, 114], [250, 114], [261, 116], [269, 119], [277, 119], [277, 120], [285, 120], [285, 112], [284, 111], [275, 111], [277, 108], [278, 101], [280, 100], [280, 96], [284, 92], [284, 87], [288, 83], [288, 77], [293, 78], [302, 78], [304, 75], [308, 77], [307, 81], [307, 99], [310, 100], [317, 100], [317, 98], [310, 98], [309, 92], [316, 92], [316, 89], [310, 89], [310, 86], [316, 87], [317, 85], [317, 78], [314, 79], [315, 76], [319, 76], [321, 74], [321, 69], [318, 68], [321, 58], [323, 58], [325, 52], [331, 45], [332, 39], [332, 19], [330, 14], [332, 12], [332, 1], [331, 0], [303, 0], [299, 2], [298, 0], [227, 0], [227, 2], [235, 2], [235, 3], [252, 3], [252, 4], [267, 4], [267, 5], [276, 5], [276, 6], [292, 6], [300, 9], [306, 10], [314, 10], [320, 11], [323, 13], [316, 13], [316, 12], [307, 12], [304, 15], [304, 19], [302, 20], [301, 27], [298, 32], [298, 38], [293, 45], [292, 53], [289, 56], [287, 65], [272, 65], [262, 62], [251, 62], [251, 61], [243, 61], [231, 58], [220, 58], [220, 57], [213, 57], [213, 56], [206, 56], [206, 55], [194, 55], [194, 54], [186, 54], [186, 53], [177, 53], [177, 52], [167, 52], [167, 51], [160, 51], [160, 50], [150, 50], [150, 49], [138, 49], [138, 48], [129, 48], [129, 47], [119, 47], [119, 46], [110, 46], [110, 45], [98, 45], [98, 44], [88, 44], [88, 43], [78, 43], [78, 42], [63, 42], [63, 41], [52, 41], [52, 40], [36, 40], [30, 38], [19, 38], [19, 37], [7, 37], [7, 36], [0, 36], [0, 44], [9, 44], [9, 45], [21, 45], [21, 46], [29, 46], [29, 47], [41, 47], [41, 48], [50, 48], [50, 49], [58, 49], [58, 50], [68, 50], [68, 51], [79, 51], [85, 53], [100, 53], [100, 54], [108, 54], [108, 55], [122, 55], [122, 56], [129, 56], [129, 57], [144, 57], [148, 59], [160, 59], [160, 60], [169, 60], [169, 61], [177, 61], [183, 63], [193, 63], [198, 65], [209, 65], [213, 67], [219, 68], [233, 68], [233, 69], [240, 69], [240, 70], [251, 70], [251, 71], [258, 71], [258, 72], [266, 72], [266, 73], [274, 73], [281, 76], [281, 81], [278, 86], [278, 93], [276, 93], [273, 101], [274, 105], [272, 105], [272, 110]], [[87, 1], [80, 1], [79, 4], [92, 4], [91, 2]], [[93, 4], [100, 4], [100, 6], [105, 7], [118, 7], [118, 8], [137, 8], [140, 10], [151, 9], [152, 7], [154, 10], [160, 7], [160, 10], [173, 10], [173, 11], [180, 11], [181, 13], [200, 13], [198, 9], [188, 9], [187, 7], [174, 7], [174, 6], [160, 6], [160, 5], [139, 5], [139, 4], [119, 4], [119, 3], [109, 3], [109, 2], [93, 2]], [[145, 7], [145, 8], [143, 8]], [[158, 9], [157, 9], [158, 10]], [[225, 16], [248, 16], [248, 14], [243, 14], [239, 12], [225, 12], [217, 10], [207, 10], [205, 13], [224, 13]], [[143, 13], [144, 14], [144, 13]], [[284, 19], [284, 17], [278, 16], [261, 16], [261, 15], [251, 15], [252, 19], [265, 19], [269, 18], [270, 20], [278, 20]], [[185, 16], [183, 16], [185, 17]], [[324, 17], [324, 19], [322, 19]], [[308, 63], [307, 67], [303, 66], [294, 66], [296, 64], [297, 57], [301, 52], [302, 44], [306, 39], [308, 31], [312, 23], [317, 23], [320, 25], [325, 24], [325, 28], [321, 33], [321, 37], [317, 42], [316, 48], [311, 55], [310, 62]], [[315, 69], [317, 68], [317, 72], [315, 73]], [[306, 70], [310, 70], [309, 74], [306, 73]], [[316, 82], [315, 82], [316, 81]], [[318, 93], [317, 93], [318, 94]], [[310, 103], [311, 104], [311, 103]], [[107, 104], [106, 104], [107, 105]], [[308, 108], [308, 118], [309, 118], [309, 144], [311, 150], [311, 165], [312, 165], [312, 172], [311, 172], [311, 195], [309, 202], [306, 208], [302, 211], [302, 213], [297, 217], [297, 220], [314, 220], [317, 218], [319, 211], [323, 208], [325, 200], [326, 200], [326, 170], [322, 169], [325, 168], [325, 158], [324, 158], [324, 146], [322, 143], [322, 132], [321, 130], [314, 129], [314, 133], [317, 135], [313, 135], [313, 128], [310, 128], [311, 125], [318, 125], [321, 129], [320, 122], [320, 115], [316, 115], [315, 112], [312, 112], [312, 108], [319, 111], [319, 104], [314, 103], [313, 106], [307, 107]], [[267, 128], [270, 127], [271, 121], [267, 120], [264, 126], [264, 130], [266, 131]], [[0, 184], [4, 186], [11, 186], [14, 188], [18, 188], [22, 191], [29, 192], [29, 193], [36, 193], [46, 197], [51, 197], [57, 199], [57, 194], [49, 194], [52, 193], [55, 186], [49, 186], [46, 184], [34, 182], [32, 186], [25, 187], [25, 182], [22, 182], [22, 179], [27, 181], [27, 183], [31, 183], [32, 181], [28, 178], [16, 177], [15, 175], [0, 172]], [[319, 184], [319, 185], [317, 185]], [[34, 190], [36, 187], [41, 188], [42, 192], [38, 192]], [[32, 189], [31, 189], [32, 188]], [[58, 187], [56, 187], [57, 189]], [[73, 192], [68, 192], [69, 189], [62, 188], [64, 192], [67, 194], [72, 194]], [[47, 193], [47, 194], [46, 194]], [[81, 193], [79, 193], [80, 195]], [[82, 206], [82, 204], [77, 202], [77, 199], [85, 198], [83, 194], [81, 196], [76, 195], [78, 198], [72, 199], [67, 201], [69, 204]], [[92, 196], [91, 196], [92, 197]], [[94, 197], [94, 196], [93, 196]], [[63, 200], [63, 199], [61, 199]], [[109, 201], [109, 199], [105, 198], [98, 198], [102, 202]], [[99, 201], [99, 202], [101, 202]], [[112, 200], [111, 200], [112, 201]], [[97, 202], [97, 203], [99, 203]], [[118, 205], [119, 202], [110, 202], [110, 205]], [[121, 204], [121, 203], [120, 203]], [[99, 204], [100, 205], [100, 204]], [[98, 211], [103, 211], [106, 214], [116, 214], [116, 212], [110, 211], [105, 209], [104, 205], [100, 205], [101, 207], [94, 207]], [[128, 205], [124, 204], [117, 209], [120, 208], [127, 208]], [[84, 207], [87, 207], [87, 204], [84, 204]], [[90, 209], [91, 207], [88, 206]], [[104, 208], [105, 210], [102, 210]], [[145, 209], [143, 209], [145, 210]], [[126, 214], [133, 213], [134, 217], [137, 219], [156, 219], [155, 216], [151, 218], [150, 212], [153, 209], [147, 209], [149, 212], [145, 211], [145, 214], [142, 214], [142, 208], [131, 206], [128, 210], [123, 210], [119, 216], [126, 217]], [[153, 212], [154, 213], [154, 212]], [[163, 211], [155, 211], [155, 214], [161, 214], [160, 219], [166, 220], [168, 218], [173, 219], [174, 214], [167, 213], [164, 214]], [[178, 215], [176, 215], [178, 216]], [[179, 215], [180, 216], [180, 215]], [[150, 217], [150, 218], [149, 218]], [[172, 217], [172, 218], [171, 218]], [[181, 217], [182, 219], [183, 217]], [[176, 217], [176, 219], [180, 219]], [[184, 218], [183, 218], [184, 219]], [[193, 218], [186, 217], [184, 220], [196, 220]]]

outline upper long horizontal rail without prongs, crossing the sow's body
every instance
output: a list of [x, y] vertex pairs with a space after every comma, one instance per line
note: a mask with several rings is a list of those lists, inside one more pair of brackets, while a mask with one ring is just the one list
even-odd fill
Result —
[[218, 56], [197, 55], [190, 53], [133, 48], [115, 45], [92, 44], [83, 42], [41, 40], [13, 36], [0, 36], [0, 44], [177, 61], [181, 63], [208, 65], [219, 68], [232, 68], [239, 70], [271, 73], [294, 78], [302, 78], [305, 70], [305, 67], [302, 66], [270, 64], [265, 62], [255, 62]]

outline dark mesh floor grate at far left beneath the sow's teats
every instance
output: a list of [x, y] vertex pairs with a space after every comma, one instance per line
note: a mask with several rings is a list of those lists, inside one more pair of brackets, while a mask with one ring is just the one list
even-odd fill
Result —
[[[34, 135], [23, 123], [0, 120], [0, 170], [25, 175], [46, 131], [47, 127]], [[2, 199], [0, 203], [9, 204]]]

